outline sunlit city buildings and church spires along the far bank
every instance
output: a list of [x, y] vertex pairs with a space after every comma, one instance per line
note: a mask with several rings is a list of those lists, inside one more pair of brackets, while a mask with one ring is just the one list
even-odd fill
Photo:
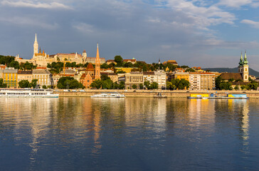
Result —
[[[115, 67], [110, 69], [101, 69], [100, 65], [102, 63], [115, 63], [114, 60], [107, 60], [105, 58], [100, 58], [99, 47], [97, 45], [97, 53], [95, 57], [88, 57], [86, 51], [83, 54], [78, 53], [57, 53], [56, 55], [49, 56], [45, 51], [38, 49], [37, 36], [35, 36], [35, 41], [33, 43], [33, 58], [23, 59], [16, 56], [15, 58], [18, 63], [33, 63], [37, 65], [37, 69], [33, 71], [18, 71], [14, 68], [6, 68], [6, 66], [0, 66], [0, 78], [3, 78], [4, 83], [10, 88], [18, 88], [18, 82], [22, 80], [28, 80], [31, 82], [33, 79], [38, 79], [38, 86], [50, 86], [55, 87], [58, 80], [63, 76], [71, 76], [75, 80], [83, 83], [85, 88], [90, 88], [90, 84], [96, 79], [100, 79], [102, 75], [109, 76], [113, 82], [120, 83], [120, 81], [125, 81], [126, 88], [132, 88], [136, 85], [139, 88], [140, 84], [144, 84], [144, 81], [149, 81], [150, 83], [156, 82], [159, 88], [166, 88], [166, 81], [171, 81], [171, 79], [179, 78], [186, 79], [190, 83], [190, 90], [212, 90], [215, 89], [216, 77], [221, 76], [223, 79], [228, 80], [234, 78], [235, 80], [240, 80], [243, 83], [248, 82], [249, 68], [248, 60], [241, 53], [240, 62], [238, 66], [238, 73], [217, 73], [217, 72], [206, 72], [202, 71], [201, 68], [194, 68], [195, 72], [185, 72], [184, 68], [176, 68], [173, 72], [168, 71], [149, 71], [141, 72], [139, 68], [125, 68], [125, 67]], [[53, 62], [75, 62], [75, 63], [88, 63], [87, 68], [65, 68], [65, 73], [51, 74], [47, 69], [48, 63]], [[136, 63], [136, 59], [126, 59], [125, 63]], [[166, 61], [165, 63], [171, 63], [178, 66], [176, 61]], [[95, 67], [93, 66], [95, 64]], [[160, 64], [160, 60], [159, 60]], [[124, 71], [125, 73], [116, 73], [117, 71]]]

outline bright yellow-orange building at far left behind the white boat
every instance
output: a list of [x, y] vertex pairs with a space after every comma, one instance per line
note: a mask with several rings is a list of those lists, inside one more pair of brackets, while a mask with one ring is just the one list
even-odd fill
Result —
[[18, 70], [13, 69], [13, 68], [4, 69], [3, 79], [4, 79], [4, 83], [6, 83], [8, 88], [17, 88], [18, 87], [17, 72], [18, 72]]

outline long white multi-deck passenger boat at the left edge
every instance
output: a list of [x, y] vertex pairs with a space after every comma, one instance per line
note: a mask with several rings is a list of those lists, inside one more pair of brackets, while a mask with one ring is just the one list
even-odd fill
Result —
[[4, 88], [0, 89], [0, 98], [58, 98], [50, 89]]

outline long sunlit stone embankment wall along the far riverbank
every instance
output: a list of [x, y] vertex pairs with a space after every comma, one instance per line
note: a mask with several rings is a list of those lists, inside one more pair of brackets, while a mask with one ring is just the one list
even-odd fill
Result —
[[124, 94], [126, 97], [139, 97], [139, 98], [152, 98], [157, 93], [162, 93], [162, 95], [166, 95], [167, 97], [172, 98], [186, 98], [191, 93], [216, 93], [217, 95], [226, 95], [229, 94], [246, 94], [249, 98], [259, 98], [258, 90], [85, 90], [85, 92], [70, 92], [58, 90], [54, 93], [58, 93], [60, 97], [90, 97], [91, 95], [95, 95], [98, 93], [112, 93], [117, 92]]

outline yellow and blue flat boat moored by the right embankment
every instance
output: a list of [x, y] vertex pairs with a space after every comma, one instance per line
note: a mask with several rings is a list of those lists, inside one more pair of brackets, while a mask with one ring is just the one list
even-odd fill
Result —
[[216, 95], [211, 94], [191, 94], [188, 98], [201, 98], [201, 99], [248, 99], [246, 94], [226, 94], [226, 95]]

